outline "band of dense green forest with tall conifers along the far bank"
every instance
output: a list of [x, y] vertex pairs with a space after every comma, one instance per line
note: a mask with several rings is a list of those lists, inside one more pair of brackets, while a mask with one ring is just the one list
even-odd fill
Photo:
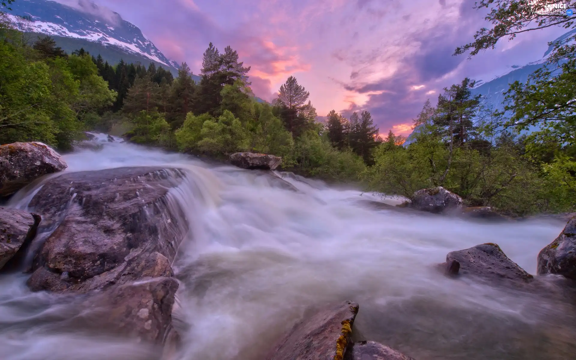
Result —
[[[575, 51], [558, 54], [561, 81], [539, 71], [512, 84], [502, 112], [484, 107], [473, 81], [445, 88], [414, 119], [414, 139], [381, 137], [368, 111], [317, 120], [309, 93], [289, 77], [272, 104], [257, 101], [249, 66], [231, 47], [203, 54], [200, 82], [186, 63], [109, 64], [80, 49], [66, 54], [50, 37], [29, 39], [0, 18], [0, 143], [42, 141], [68, 150], [84, 131], [226, 158], [275, 154], [282, 169], [410, 198], [444, 186], [469, 206], [510, 215], [573, 211], [576, 204], [571, 92]], [[548, 71], [548, 72], [546, 72]], [[559, 95], [562, 94], [562, 96]], [[559, 98], [562, 97], [562, 98]], [[564, 101], [565, 107], [550, 106]], [[529, 126], [538, 131], [521, 134]]]

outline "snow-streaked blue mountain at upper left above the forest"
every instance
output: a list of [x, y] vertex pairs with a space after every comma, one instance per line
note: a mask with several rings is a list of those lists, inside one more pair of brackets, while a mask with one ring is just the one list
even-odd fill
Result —
[[[172, 71], [179, 69], [178, 63], [166, 58], [137, 26], [123, 20], [118, 13], [100, 11], [91, 2], [81, 1], [78, 4], [76, 9], [55, 1], [18, 0], [10, 5], [12, 10], [2, 10], [13, 22], [27, 27], [23, 30], [29, 32], [86, 40], [136, 55]], [[17, 16], [29, 17], [30, 21], [22, 23]]]

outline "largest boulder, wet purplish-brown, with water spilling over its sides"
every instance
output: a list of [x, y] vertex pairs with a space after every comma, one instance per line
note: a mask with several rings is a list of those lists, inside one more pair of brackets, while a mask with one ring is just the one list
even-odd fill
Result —
[[106, 309], [103, 329], [162, 342], [178, 288], [170, 264], [188, 232], [169, 189], [183, 177], [179, 169], [143, 167], [47, 180], [29, 204], [49, 220], [31, 247], [29, 287], [95, 292], [86, 306]]

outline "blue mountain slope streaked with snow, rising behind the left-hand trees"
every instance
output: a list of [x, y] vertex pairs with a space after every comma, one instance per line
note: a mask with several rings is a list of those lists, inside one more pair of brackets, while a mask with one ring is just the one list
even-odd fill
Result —
[[[98, 9], [92, 6], [93, 10]], [[123, 20], [118, 13], [104, 18], [47, 0], [18, 0], [10, 7], [12, 10], [2, 10], [14, 22], [16, 16], [29, 16], [32, 21], [26, 25], [28, 31], [54, 36], [58, 45], [69, 52], [84, 47], [92, 50], [90, 54], [101, 54], [111, 63], [123, 58], [154, 62], [173, 72], [179, 69], [178, 63], [166, 58], [137, 26]]]

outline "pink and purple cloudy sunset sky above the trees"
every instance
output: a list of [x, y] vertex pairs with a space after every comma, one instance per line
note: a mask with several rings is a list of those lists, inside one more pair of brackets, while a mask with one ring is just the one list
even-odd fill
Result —
[[[66, 5], [79, 0], [57, 0]], [[83, 0], [80, 0], [83, 1]], [[503, 41], [468, 60], [452, 56], [485, 26], [475, 0], [94, 0], [137, 25], [195, 74], [209, 42], [238, 51], [255, 94], [272, 100], [294, 75], [320, 116], [368, 110], [381, 134], [411, 132], [413, 118], [464, 77], [489, 80], [539, 60], [553, 28]]]

